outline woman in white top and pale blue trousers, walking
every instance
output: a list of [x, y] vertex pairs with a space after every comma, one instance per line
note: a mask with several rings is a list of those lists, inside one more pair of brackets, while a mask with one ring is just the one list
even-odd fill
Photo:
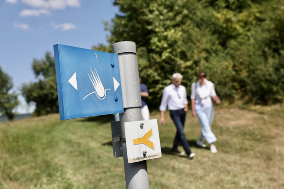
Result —
[[210, 144], [211, 152], [216, 153], [217, 149], [213, 143], [217, 141], [217, 138], [211, 130], [214, 117], [214, 106], [211, 98], [217, 105], [219, 105], [221, 101], [216, 95], [214, 84], [206, 79], [206, 73], [201, 71], [197, 74], [197, 77], [198, 81], [191, 84], [190, 95], [192, 116], [198, 117], [201, 126], [201, 134], [197, 145], [206, 147], [202, 142], [202, 139], [205, 138], [207, 143]]

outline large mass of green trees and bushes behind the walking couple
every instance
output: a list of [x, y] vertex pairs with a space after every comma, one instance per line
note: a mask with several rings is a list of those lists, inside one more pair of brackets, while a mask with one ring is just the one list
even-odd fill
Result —
[[180, 72], [190, 94], [196, 73], [208, 72], [221, 99], [283, 102], [284, 1], [116, 0], [106, 23], [110, 44], [137, 45], [148, 104], [158, 107], [171, 75]]

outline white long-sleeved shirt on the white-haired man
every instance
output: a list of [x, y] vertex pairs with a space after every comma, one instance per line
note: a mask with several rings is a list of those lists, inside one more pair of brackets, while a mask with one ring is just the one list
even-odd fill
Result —
[[170, 84], [163, 90], [160, 111], [166, 111], [166, 106], [169, 110], [183, 109], [188, 103], [186, 87], [183, 85], [175, 87], [174, 84]]

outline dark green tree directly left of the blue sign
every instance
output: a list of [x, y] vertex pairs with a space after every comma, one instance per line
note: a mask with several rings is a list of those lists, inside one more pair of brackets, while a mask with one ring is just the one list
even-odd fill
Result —
[[36, 103], [35, 115], [58, 112], [55, 63], [51, 53], [47, 52], [45, 59], [34, 59], [32, 68], [38, 82], [23, 84], [21, 91], [26, 102]]

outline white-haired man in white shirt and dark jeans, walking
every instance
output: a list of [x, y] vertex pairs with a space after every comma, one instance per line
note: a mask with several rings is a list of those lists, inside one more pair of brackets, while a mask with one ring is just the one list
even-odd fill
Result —
[[170, 117], [177, 129], [172, 150], [173, 152], [182, 155], [182, 152], [178, 150], [179, 142], [181, 142], [188, 155], [188, 158], [192, 159], [195, 156], [195, 153], [190, 151], [189, 143], [184, 132], [186, 115], [188, 111], [188, 100], [186, 88], [181, 85], [182, 79], [183, 76], [180, 73], [174, 73], [172, 75], [172, 84], [164, 88], [162, 102], [160, 105], [161, 113], [159, 123], [165, 123], [165, 111], [167, 107], [169, 109]]

